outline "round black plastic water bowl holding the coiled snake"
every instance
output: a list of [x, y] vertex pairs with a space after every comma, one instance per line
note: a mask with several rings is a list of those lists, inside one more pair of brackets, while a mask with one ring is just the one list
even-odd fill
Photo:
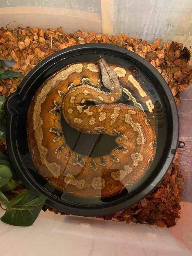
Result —
[[[27, 113], [30, 102], [41, 84], [55, 71], [74, 62], [97, 62], [100, 58], [108, 63], [124, 66], [130, 69], [134, 66], [139, 70], [135, 77], [152, 95], [157, 116], [157, 152], [150, 170], [133, 188], [127, 188], [115, 197], [102, 199], [82, 199], [71, 194], [63, 193], [52, 187], [32, 162], [27, 141]], [[134, 71], [134, 68], [131, 68]], [[121, 102], [131, 104], [131, 102]], [[12, 164], [26, 188], [40, 191], [47, 196], [46, 204], [62, 212], [82, 216], [99, 216], [118, 212], [125, 209], [149, 194], [164, 178], [169, 169], [178, 147], [179, 120], [176, 104], [169, 86], [159, 72], [139, 55], [109, 44], [82, 44], [58, 51], [40, 62], [19, 85], [17, 91], [9, 96], [7, 110], [7, 149]], [[74, 143], [76, 131], [67, 128], [65, 136], [67, 143]], [[73, 134], [74, 132], [74, 134]], [[83, 137], [85, 136], [85, 137]], [[89, 143], [88, 135], [82, 138]], [[91, 136], [91, 135], [90, 135]], [[109, 145], [109, 138], [104, 137], [98, 144], [101, 155], [102, 149]], [[103, 143], [103, 144], [102, 144]], [[85, 144], [85, 143], [84, 143]], [[100, 145], [100, 148], [99, 148]], [[111, 144], [113, 148], [113, 143]], [[101, 150], [100, 150], [101, 149]], [[79, 146], [78, 150], [82, 150]], [[85, 149], [86, 151], [86, 149]], [[95, 151], [95, 154], [97, 155]], [[83, 154], [82, 152], [80, 152]], [[107, 152], [108, 154], [109, 152]]]

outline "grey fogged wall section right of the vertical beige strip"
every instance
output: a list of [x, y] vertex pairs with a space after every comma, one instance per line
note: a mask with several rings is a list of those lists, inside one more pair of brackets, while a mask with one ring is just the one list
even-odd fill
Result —
[[192, 43], [192, 2], [191, 0], [146, 0], [114, 1], [113, 14], [116, 33], [128, 33], [154, 41], [174, 40]]

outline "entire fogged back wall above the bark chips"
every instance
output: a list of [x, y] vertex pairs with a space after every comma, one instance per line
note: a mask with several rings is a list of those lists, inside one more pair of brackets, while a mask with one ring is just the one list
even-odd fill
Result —
[[1, 0], [1, 26], [62, 26], [104, 34], [126, 33], [149, 43], [179, 41], [192, 44], [191, 0]]

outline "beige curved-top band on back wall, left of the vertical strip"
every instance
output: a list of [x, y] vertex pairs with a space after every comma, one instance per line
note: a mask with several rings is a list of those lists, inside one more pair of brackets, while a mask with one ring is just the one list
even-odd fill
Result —
[[101, 33], [101, 17], [97, 13], [49, 7], [8, 7], [0, 8], [0, 26], [12, 21], [9, 27], [30, 26], [41, 28], [62, 27], [64, 32], [77, 30]]

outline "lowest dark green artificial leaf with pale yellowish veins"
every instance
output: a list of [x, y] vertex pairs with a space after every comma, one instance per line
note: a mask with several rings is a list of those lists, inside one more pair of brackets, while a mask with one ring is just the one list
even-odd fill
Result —
[[7, 210], [1, 217], [4, 223], [28, 227], [38, 217], [46, 196], [37, 191], [26, 190], [9, 201], [10, 210]]

